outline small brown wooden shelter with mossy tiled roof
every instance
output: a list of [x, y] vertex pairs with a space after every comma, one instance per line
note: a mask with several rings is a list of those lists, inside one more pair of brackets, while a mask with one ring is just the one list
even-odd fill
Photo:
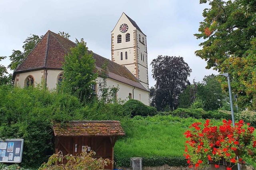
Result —
[[[114, 145], [118, 136], [125, 135], [119, 121], [68, 121], [55, 123], [55, 152], [80, 154], [83, 146], [96, 152], [95, 158], [114, 160]], [[113, 169], [110, 164], [106, 169]]]

